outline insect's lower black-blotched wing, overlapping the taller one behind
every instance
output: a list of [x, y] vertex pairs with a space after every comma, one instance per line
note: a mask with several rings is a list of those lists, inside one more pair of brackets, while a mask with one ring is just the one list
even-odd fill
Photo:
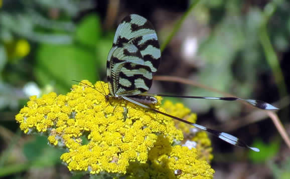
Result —
[[151, 88], [152, 71], [135, 45], [123, 43], [109, 52], [107, 80], [111, 95], [137, 95]]

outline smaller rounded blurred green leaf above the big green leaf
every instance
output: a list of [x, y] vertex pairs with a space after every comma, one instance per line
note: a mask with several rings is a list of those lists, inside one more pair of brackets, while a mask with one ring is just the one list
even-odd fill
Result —
[[75, 38], [83, 45], [94, 47], [100, 37], [100, 19], [95, 15], [87, 16], [76, 29]]

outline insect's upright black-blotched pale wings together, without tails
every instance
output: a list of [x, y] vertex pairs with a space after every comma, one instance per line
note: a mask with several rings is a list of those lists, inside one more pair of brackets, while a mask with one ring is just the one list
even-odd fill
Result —
[[107, 58], [107, 81], [111, 96], [132, 96], [151, 88], [161, 51], [153, 25], [138, 15], [119, 24]]

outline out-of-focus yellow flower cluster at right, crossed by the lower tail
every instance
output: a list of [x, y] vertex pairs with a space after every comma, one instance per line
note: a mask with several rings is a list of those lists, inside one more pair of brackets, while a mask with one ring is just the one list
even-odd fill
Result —
[[[166, 101], [162, 106], [167, 113], [185, 119], [189, 122], [195, 123], [197, 115], [191, 113], [190, 109], [186, 108], [182, 103], [173, 104], [171, 101]], [[205, 131], [199, 131], [191, 125], [180, 121], [175, 121], [178, 128], [184, 132], [185, 139], [196, 141], [196, 148], [198, 150], [199, 158], [210, 162], [213, 159], [211, 141]], [[193, 130], [195, 129], [195, 130]], [[194, 136], [193, 136], [194, 135]]]

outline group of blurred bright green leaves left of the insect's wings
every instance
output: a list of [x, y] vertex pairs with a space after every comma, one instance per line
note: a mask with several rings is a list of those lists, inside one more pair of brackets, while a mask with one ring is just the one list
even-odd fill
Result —
[[69, 91], [71, 80], [99, 80], [98, 73], [104, 68], [103, 57], [110, 49], [112, 36], [102, 37], [100, 20], [91, 15], [77, 25], [72, 37], [72, 44], [41, 44], [37, 49], [37, 80], [45, 85], [54, 79], [60, 93]]

